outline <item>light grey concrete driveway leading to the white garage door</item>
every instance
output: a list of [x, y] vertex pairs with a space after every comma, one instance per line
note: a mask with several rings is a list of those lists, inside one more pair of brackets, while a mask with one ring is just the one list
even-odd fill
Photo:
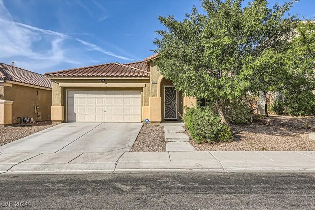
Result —
[[128, 152], [142, 123], [63, 123], [0, 147], [8, 153]]

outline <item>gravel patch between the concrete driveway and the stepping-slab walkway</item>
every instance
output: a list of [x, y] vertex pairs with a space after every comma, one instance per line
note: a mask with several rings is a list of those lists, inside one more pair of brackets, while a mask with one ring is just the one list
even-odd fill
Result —
[[164, 139], [164, 128], [144, 124], [134, 142], [130, 152], [157, 152], [166, 151], [166, 141]]

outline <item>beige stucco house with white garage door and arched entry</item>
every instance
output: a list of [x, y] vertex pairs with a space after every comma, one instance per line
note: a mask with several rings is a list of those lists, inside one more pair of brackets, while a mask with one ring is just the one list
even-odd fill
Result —
[[45, 73], [52, 80], [51, 120], [62, 122], [141, 122], [178, 120], [196, 99], [183, 97], [154, 62], [107, 63]]

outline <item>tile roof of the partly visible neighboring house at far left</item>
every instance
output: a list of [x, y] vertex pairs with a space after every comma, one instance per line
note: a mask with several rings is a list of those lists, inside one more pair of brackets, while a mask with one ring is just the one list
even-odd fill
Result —
[[5, 63], [0, 63], [0, 79], [52, 88], [51, 80], [44, 75]]

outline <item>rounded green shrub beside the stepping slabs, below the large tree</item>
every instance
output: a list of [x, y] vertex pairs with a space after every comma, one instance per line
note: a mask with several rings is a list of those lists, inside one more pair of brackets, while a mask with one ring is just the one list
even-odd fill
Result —
[[229, 127], [221, 123], [219, 115], [214, 114], [210, 107], [186, 108], [182, 117], [190, 135], [198, 143], [233, 141]]

